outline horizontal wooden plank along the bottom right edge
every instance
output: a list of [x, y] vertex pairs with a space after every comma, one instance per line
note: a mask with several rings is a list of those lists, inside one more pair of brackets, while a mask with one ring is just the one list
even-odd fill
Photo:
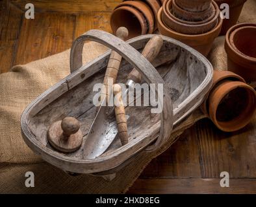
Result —
[[230, 179], [229, 188], [220, 179], [138, 179], [127, 193], [256, 193], [256, 179]]

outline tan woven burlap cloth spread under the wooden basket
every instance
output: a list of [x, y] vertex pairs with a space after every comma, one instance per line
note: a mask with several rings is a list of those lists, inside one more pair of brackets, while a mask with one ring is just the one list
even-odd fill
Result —
[[[244, 6], [240, 22], [255, 22], [256, 1], [250, 0]], [[87, 43], [84, 47], [84, 63], [106, 48], [97, 43]], [[34, 155], [26, 146], [20, 134], [20, 115], [36, 96], [68, 75], [70, 51], [13, 67], [10, 72], [0, 75], [0, 192], [1, 193], [123, 193], [127, 191], [152, 158], [165, 151], [171, 143], [166, 143], [155, 154], [142, 151], [136, 160], [120, 172], [111, 182], [101, 177], [79, 175], [72, 177]], [[226, 66], [224, 37], [216, 38], [209, 60], [214, 68], [224, 70]], [[175, 129], [172, 136], [177, 138], [196, 120], [203, 118], [195, 111], [183, 124]], [[25, 187], [25, 173], [33, 171], [35, 188]], [[129, 173], [127, 173], [129, 172]]]

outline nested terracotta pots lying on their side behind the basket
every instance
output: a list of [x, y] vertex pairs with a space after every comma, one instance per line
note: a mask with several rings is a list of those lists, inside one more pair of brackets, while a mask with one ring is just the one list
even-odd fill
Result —
[[119, 27], [129, 30], [129, 37], [152, 34], [157, 30], [157, 12], [164, 0], [123, 1], [110, 17], [114, 34]]

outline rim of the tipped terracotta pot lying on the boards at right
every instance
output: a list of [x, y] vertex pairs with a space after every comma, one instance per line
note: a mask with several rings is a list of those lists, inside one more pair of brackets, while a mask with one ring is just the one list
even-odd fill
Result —
[[[227, 122], [221, 122], [218, 121], [216, 118], [216, 112], [218, 110], [218, 106], [220, 105], [220, 102], [222, 102], [223, 98], [230, 93], [231, 91], [237, 89], [237, 88], [244, 88], [246, 89], [246, 91], [248, 91], [248, 99], [250, 102], [250, 105], [246, 107], [245, 109], [245, 113], [242, 113], [242, 115], [239, 115], [235, 118], [233, 118], [230, 121]], [[253, 96], [254, 94], [254, 96]], [[219, 95], [218, 98], [216, 98], [216, 96]], [[211, 108], [209, 106], [209, 116], [212, 120], [212, 122], [214, 122], [214, 124], [221, 129], [222, 131], [237, 131], [239, 129], [242, 129], [243, 127], [245, 127], [251, 120], [251, 118], [254, 116], [255, 111], [256, 111], [256, 107], [253, 109], [253, 105], [256, 105], [256, 91], [250, 87], [250, 85], [244, 83], [244, 82], [233, 82], [233, 81], [229, 81], [227, 80], [224, 83], [221, 83], [220, 85], [218, 85], [213, 91], [212, 94], [209, 96], [209, 98], [212, 98], [212, 104], [211, 104]], [[216, 98], [215, 102], [214, 99]], [[251, 98], [253, 98], [253, 100], [251, 100]], [[253, 109], [253, 113], [251, 112], [251, 109]], [[250, 116], [248, 116], [248, 114], [250, 114]], [[237, 124], [235, 124], [237, 123]], [[226, 125], [223, 125], [226, 124]], [[229, 126], [228, 126], [229, 124]]]

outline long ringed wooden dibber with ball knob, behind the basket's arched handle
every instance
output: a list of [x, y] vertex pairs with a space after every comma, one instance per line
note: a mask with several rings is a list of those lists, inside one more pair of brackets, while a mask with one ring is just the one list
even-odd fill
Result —
[[[125, 40], [128, 34], [129, 32], [125, 27], [120, 27], [118, 30], [116, 30], [116, 36], [122, 40]], [[114, 82], [116, 82], [116, 76], [118, 75], [121, 60], [122, 56], [112, 50], [103, 81], [103, 84], [105, 85], [105, 91], [102, 93], [103, 96], [101, 96], [101, 101], [103, 101], [102, 97], [106, 97], [108, 103], [110, 89], [112, 89]]]

